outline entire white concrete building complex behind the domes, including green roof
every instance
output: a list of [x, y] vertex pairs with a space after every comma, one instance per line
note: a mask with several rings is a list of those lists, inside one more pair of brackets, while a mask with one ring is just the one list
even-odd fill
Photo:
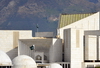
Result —
[[30, 56], [38, 68], [50, 68], [52, 63], [63, 68], [100, 66], [100, 12], [61, 14], [57, 30], [58, 38], [53, 38], [52, 32], [32, 37], [32, 31], [0, 30], [0, 50], [11, 60], [20, 55]]

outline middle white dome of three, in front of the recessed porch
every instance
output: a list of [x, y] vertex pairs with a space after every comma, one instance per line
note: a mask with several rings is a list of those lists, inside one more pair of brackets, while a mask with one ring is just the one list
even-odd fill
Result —
[[13, 68], [37, 68], [37, 65], [31, 57], [20, 55], [13, 59]]

